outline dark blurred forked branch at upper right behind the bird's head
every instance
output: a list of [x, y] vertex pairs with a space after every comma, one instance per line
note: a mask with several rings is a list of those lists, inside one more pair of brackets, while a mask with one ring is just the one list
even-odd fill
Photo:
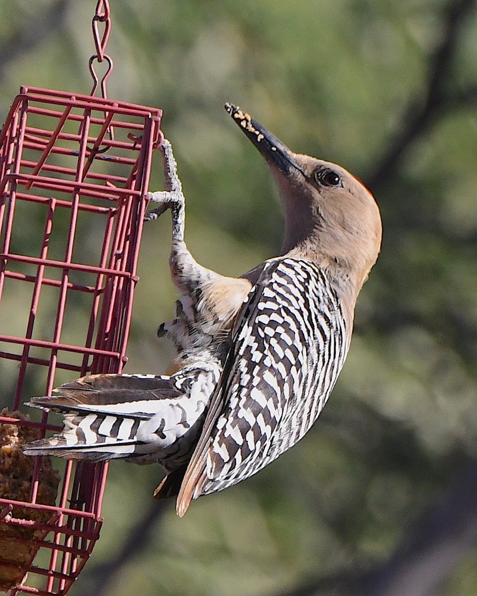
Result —
[[450, 2], [442, 12], [441, 21], [444, 26], [442, 41], [429, 57], [428, 88], [419, 100], [411, 101], [404, 117], [401, 130], [394, 139], [382, 159], [366, 178], [370, 188], [387, 184], [392, 170], [410, 145], [419, 138], [436, 119], [449, 110], [475, 103], [477, 89], [469, 88], [456, 95], [448, 94], [446, 83], [451, 76], [451, 67], [459, 45], [461, 29], [475, 10], [475, 0], [457, 0]]

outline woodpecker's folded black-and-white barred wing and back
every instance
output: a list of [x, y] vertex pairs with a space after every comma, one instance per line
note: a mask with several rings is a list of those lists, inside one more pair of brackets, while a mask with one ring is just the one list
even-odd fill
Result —
[[348, 352], [339, 297], [305, 259], [264, 264], [234, 330], [178, 508], [243, 480], [300, 440], [336, 383]]

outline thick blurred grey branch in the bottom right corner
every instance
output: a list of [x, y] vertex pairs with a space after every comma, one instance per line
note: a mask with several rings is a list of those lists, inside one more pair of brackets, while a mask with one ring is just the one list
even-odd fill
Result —
[[320, 578], [274, 596], [433, 596], [454, 566], [477, 546], [477, 460], [453, 490], [420, 517], [393, 557], [366, 572]]

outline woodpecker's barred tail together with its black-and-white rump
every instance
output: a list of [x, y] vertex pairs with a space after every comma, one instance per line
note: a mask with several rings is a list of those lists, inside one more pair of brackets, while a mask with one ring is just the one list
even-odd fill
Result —
[[28, 405], [61, 412], [64, 429], [29, 443], [27, 455], [184, 465], [200, 436], [221, 367], [214, 362], [167, 376], [99, 374], [66, 383]]

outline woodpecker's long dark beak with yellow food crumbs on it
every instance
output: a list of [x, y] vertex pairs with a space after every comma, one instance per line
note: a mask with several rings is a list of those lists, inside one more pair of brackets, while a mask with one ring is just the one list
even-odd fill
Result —
[[225, 110], [233, 117], [271, 166], [277, 167], [286, 176], [290, 175], [292, 168], [302, 172], [301, 167], [296, 163], [295, 154], [275, 135], [272, 135], [256, 120], [253, 120], [250, 114], [244, 113], [238, 106], [236, 107], [228, 102], [225, 104]]

